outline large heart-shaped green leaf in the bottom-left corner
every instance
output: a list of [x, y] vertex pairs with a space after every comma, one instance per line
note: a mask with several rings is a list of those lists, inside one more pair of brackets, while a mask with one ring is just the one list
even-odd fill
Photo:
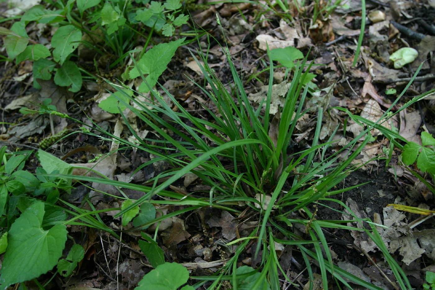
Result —
[[47, 273], [62, 256], [67, 228], [58, 224], [44, 230], [41, 227], [43, 216], [44, 203], [37, 201], [10, 227], [0, 276], [2, 289]]

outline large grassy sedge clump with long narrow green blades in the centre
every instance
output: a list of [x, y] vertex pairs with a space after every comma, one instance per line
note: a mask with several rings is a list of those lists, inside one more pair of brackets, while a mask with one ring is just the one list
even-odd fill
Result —
[[[305, 57], [303, 61], [295, 65], [285, 103], [272, 118], [269, 108], [273, 83], [273, 62], [269, 67], [269, 90], [264, 100], [264, 109], [263, 104], [256, 108], [249, 101], [243, 81], [238, 75], [228, 50], [224, 49], [224, 51], [234, 80], [234, 87], [231, 91], [228, 91], [219, 81], [201, 52], [199, 56], [204, 64], [201, 64], [192, 54], [207, 84], [210, 85], [208, 90], [198, 85], [215, 107], [212, 110], [203, 106], [204, 111], [208, 113], [208, 120], [192, 115], [163, 87], [161, 88], [164, 94], [177, 110], [173, 110], [162, 95], [151, 87], [149, 96], [142, 95], [142, 98], [136, 98], [134, 96], [139, 93], [136, 91], [133, 91], [133, 94], [127, 93], [126, 90], [131, 90], [131, 88], [122, 83], [112, 84], [119, 93], [125, 94], [125, 98], [114, 95], [119, 105], [133, 111], [137, 118], [161, 138], [140, 138], [121, 110], [119, 111], [120, 116], [137, 142], [114, 136], [97, 124], [90, 126], [74, 119], [90, 127], [90, 129], [83, 130], [89, 135], [119, 142], [125, 146], [124, 149], [142, 150], [157, 156], [137, 170], [153, 162], [167, 162], [169, 169], [148, 181], [152, 186], [89, 176], [59, 176], [144, 192], [141, 198], [128, 200], [128, 203], [121, 207], [115, 217], [122, 216], [123, 219], [131, 212], [135, 212], [136, 215], [139, 212], [139, 206], [148, 202], [182, 206], [181, 209], [167, 215], [136, 224], [130, 230], [145, 229], [151, 224], [192, 212], [201, 207], [214, 207], [235, 215], [241, 214], [248, 208], [256, 216], [258, 226], [251, 231], [248, 237], [242, 237], [234, 242], [238, 244], [234, 255], [218, 272], [210, 277], [191, 277], [198, 281], [194, 287], [209, 283], [208, 289], [217, 289], [224, 280], [229, 280], [234, 289], [237, 289], [240, 283], [248, 283], [252, 289], [279, 289], [280, 277], [293, 283], [286, 276], [274, 250], [274, 244], [280, 243], [292, 245], [301, 253], [310, 277], [310, 289], [313, 287], [312, 280], [314, 279], [313, 273], [315, 273], [313, 265], [320, 270], [324, 289], [328, 288], [328, 283], [330, 283], [328, 281], [334, 281], [346, 287], [350, 287], [348, 281], [351, 281], [367, 289], [381, 289], [334, 265], [327, 239], [322, 230], [323, 228], [334, 228], [365, 232], [385, 255], [399, 287], [411, 289], [405, 273], [388, 253], [376, 230], [381, 225], [371, 222], [370, 219], [358, 218], [343, 202], [333, 198], [336, 194], [356, 187], [332, 190], [352, 171], [358, 169], [358, 166], [351, 165], [351, 161], [360, 154], [371, 139], [369, 132], [374, 125], [369, 125], [340, 151], [319, 160], [316, 157], [317, 154], [322, 148], [325, 149], [332, 143], [331, 137], [328, 142], [319, 144], [321, 120], [324, 113], [324, 108], [319, 107], [311, 147], [294, 152], [289, 145], [292, 142], [291, 136], [296, 122], [304, 113], [303, 106], [308, 90], [304, 85], [304, 79], [310, 67], [308, 65], [308, 69], [304, 71], [307, 58]], [[146, 83], [145, 76], [142, 72], [140, 74]], [[70, 118], [65, 114], [63, 117]], [[100, 134], [92, 133], [93, 130]], [[101, 135], [108, 135], [110, 138]], [[361, 138], [364, 141], [358, 143]], [[341, 153], [344, 150], [348, 150], [348, 154], [343, 158]], [[342, 159], [339, 160], [339, 158]], [[168, 185], [176, 182], [186, 173], [197, 175], [201, 183], [210, 186], [210, 190], [194, 192], [187, 196], [166, 190]], [[265, 202], [266, 200], [268, 202]], [[323, 204], [324, 201], [338, 203], [350, 212], [351, 220], [316, 219], [314, 208], [321, 210], [321, 207], [327, 207]], [[245, 206], [240, 206], [241, 204]], [[358, 223], [360, 226], [349, 226], [348, 223]], [[304, 226], [305, 235], [292, 231], [294, 224]], [[250, 267], [239, 269], [237, 267], [238, 258], [247, 250], [251, 240], [256, 241], [253, 255], [261, 253], [261, 265], [258, 269]]]

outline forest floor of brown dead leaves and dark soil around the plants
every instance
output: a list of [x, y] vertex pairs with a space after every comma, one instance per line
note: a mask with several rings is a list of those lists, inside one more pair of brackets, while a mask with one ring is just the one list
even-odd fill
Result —
[[[207, 4], [203, 10], [189, 11], [192, 18], [185, 26], [188, 25], [190, 29], [194, 22], [196, 27], [201, 27], [207, 35], [199, 37], [198, 41], [181, 45], [158, 82], [191, 114], [213, 121], [203, 108], [205, 106], [213, 109], [213, 102], [192, 82], [193, 80], [200, 85], [206, 84], [203, 73], [191, 53], [197, 56], [197, 50], [206, 52], [208, 66], [213, 69], [217, 78], [230, 91], [234, 89], [231, 70], [221, 45], [228, 45], [232, 61], [243, 80], [244, 89], [257, 107], [261, 95], [267, 92], [269, 79], [266, 42], [271, 50], [292, 46], [298, 48], [304, 55], [308, 54], [308, 62], [313, 62], [310, 72], [315, 74], [312, 80], [315, 92], [308, 94], [304, 107], [305, 114], [298, 120], [294, 134], [291, 136], [291, 148], [295, 152], [309, 148], [315, 138], [318, 105], [325, 108], [319, 142], [327, 142], [331, 136], [334, 136], [333, 140], [338, 140], [328, 148], [327, 154], [332, 154], [355, 138], [362, 128], [349, 118], [345, 111], [334, 107], [342, 107], [353, 115], [377, 121], [405, 89], [422, 61], [425, 62], [418, 76], [399, 99], [393, 111], [415, 96], [435, 87], [433, 1], [429, 1], [432, 4], [423, 0], [365, 1], [368, 17], [364, 21], [364, 38], [355, 65], [353, 61], [361, 28], [361, 1], [343, 0], [338, 7], [334, 7], [335, 9], [320, 12], [314, 23], [316, 1], [305, 1], [304, 9], [301, 10], [304, 12], [298, 12], [296, 7], [291, 7], [287, 12], [287, 18], [283, 17], [278, 5], [269, 6], [269, 1], [266, 2], [213, 3]], [[2, 13], [10, 8], [7, 2], [0, 5]], [[264, 10], [264, 7], [269, 7], [269, 10]], [[328, 8], [326, 4], [323, 8], [325, 7]], [[263, 10], [264, 12], [261, 12]], [[216, 20], [217, 17], [220, 19], [221, 26]], [[4, 21], [2, 25], [10, 27], [13, 21]], [[401, 24], [405, 28], [398, 29], [399, 26], [395, 24]], [[28, 30], [31, 29], [37, 30], [37, 27], [28, 27]], [[419, 35], [415, 36], [413, 32], [418, 32]], [[30, 33], [31, 31], [28, 31], [29, 35]], [[40, 39], [51, 37], [50, 32], [44, 33], [47, 31], [42, 32]], [[165, 38], [155, 34], [151, 38], [150, 47], [159, 44], [162, 39]], [[177, 39], [177, 36], [173, 39]], [[188, 36], [187, 40], [189, 39], [193, 37]], [[139, 37], [137, 45], [143, 45], [145, 42], [146, 39]], [[389, 56], [401, 47], [415, 48], [418, 57], [402, 68], [394, 68]], [[7, 57], [4, 49], [2, 54]], [[109, 57], [110, 55], [107, 56]], [[77, 56], [75, 61], [77, 65], [94, 74], [96, 80], [84, 79], [83, 86], [74, 93], [58, 86], [53, 79], [39, 81], [41, 88], [36, 89], [33, 87], [31, 61], [23, 61], [19, 64], [15, 64], [15, 61], [5, 61], [0, 67], [0, 145], [6, 145], [10, 152], [37, 151], [41, 148], [41, 141], [52, 133], [58, 134], [66, 132], [65, 130], [80, 131], [80, 125], [68, 119], [57, 116], [49, 118], [48, 115], [42, 114], [23, 115], [23, 111], [20, 110], [23, 107], [37, 108], [34, 104], [46, 98], [51, 99], [51, 104], [54, 104], [58, 111], [63, 111], [72, 118], [85, 124], [94, 122], [108, 132], [115, 132], [115, 125], [121, 119], [120, 115], [104, 111], [98, 106], [107, 94], [107, 90], [114, 91], [114, 89], [100, 77], [116, 81], [115, 79], [120, 79], [124, 67], [120, 64], [119, 67], [109, 68], [105, 61], [104, 57], [100, 57], [96, 59], [94, 66], [92, 57], [89, 58], [86, 54]], [[98, 67], [98, 72], [95, 67]], [[288, 73], [286, 67], [279, 65], [274, 67], [275, 85], [272, 101], [276, 101], [276, 108], [282, 105], [281, 99], [285, 94], [283, 86], [287, 83], [286, 73]], [[164, 95], [162, 89], [159, 91]], [[396, 130], [408, 141], [421, 144], [421, 132], [435, 134], [434, 100], [433, 97], [428, 97], [401, 111], [389, 123], [389, 128]], [[170, 101], [168, 104], [177, 111], [174, 104]], [[128, 118], [134, 119], [142, 138], [155, 138], [157, 135], [138, 118], [132, 116]], [[335, 131], [337, 126], [338, 130]], [[124, 139], [132, 137], [125, 125], [119, 134]], [[345, 203], [361, 218], [368, 217], [375, 223], [394, 229], [395, 243], [391, 242], [391, 236], [387, 237], [382, 233], [381, 236], [385, 238], [389, 252], [405, 271], [412, 287], [422, 289], [425, 272], [435, 272], [434, 217], [425, 219], [413, 227], [410, 226], [412, 223], [422, 219], [420, 215], [399, 212], [388, 204], [433, 209], [434, 197], [432, 192], [411, 174], [409, 167], [400, 161], [401, 151], [390, 146], [390, 141], [381, 132], [373, 130], [372, 134], [374, 136], [372, 141], [352, 162], [352, 164], [362, 162], [364, 165], [336, 185], [335, 189], [364, 184], [336, 195], [335, 199]], [[93, 160], [100, 153], [109, 152], [110, 147], [111, 142], [107, 140], [101, 141], [95, 136], [78, 132], [62, 138], [60, 142], [46, 150], [68, 164], [86, 167], [88, 161]], [[390, 150], [393, 150], [391, 155], [389, 155]], [[152, 186], [148, 180], [166, 170], [167, 163], [157, 162], [147, 165], [132, 175], [135, 169], [152, 158], [155, 156], [150, 156], [144, 151], [118, 151], [116, 158], [112, 158], [110, 166], [97, 166], [95, 169], [110, 179]], [[25, 169], [35, 172], [38, 164], [38, 159], [32, 155]], [[411, 165], [410, 168], [418, 171], [415, 165]], [[429, 175], [422, 173], [422, 176], [427, 177], [427, 182], [433, 184]], [[74, 181], [73, 187], [70, 193], [61, 194], [61, 199], [72, 205], [89, 210], [121, 206], [119, 199], [102, 194], [99, 192], [100, 189], [96, 190], [92, 182]], [[191, 175], [186, 175], [184, 179], [179, 179], [167, 187], [167, 190], [194, 196], [196, 192], [207, 192], [210, 189], [210, 186], [201, 183], [201, 179]], [[124, 192], [130, 199], [138, 199], [143, 195], [143, 192], [134, 189], [125, 189]], [[344, 213], [338, 212], [344, 211], [338, 203], [329, 201], [321, 203], [325, 206], [318, 209], [316, 217], [318, 220], [348, 219]], [[163, 214], [168, 214], [186, 207], [178, 204], [167, 205], [160, 210]], [[312, 206], [310, 208], [314, 209]], [[68, 226], [69, 235], [85, 250], [84, 259], [73, 275], [69, 277], [58, 275], [46, 285], [47, 289], [133, 289], [144, 274], [152, 270], [137, 243], [141, 236], [140, 231], [123, 231], [120, 218], [114, 218], [116, 213], [115, 210], [101, 212], [100, 218], [116, 233], [122, 233], [123, 242], [98, 229], [80, 225]], [[208, 276], [217, 271], [224, 265], [226, 259], [234, 254], [234, 248], [226, 244], [236, 239], [236, 236], [237, 238], [244, 236], [243, 231], [256, 226], [254, 222], [255, 218], [246, 222], [243, 216], [216, 208], [202, 207], [193, 212], [174, 216], [164, 225], [162, 223], [158, 229], [157, 241], [164, 250], [167, 261], [183, 264], [189, 269], [191, 277]], [[303, 228], [298, 229], [297, 226], [292, 230], [304, 232]], [[147, 230], [151, 236], [154, 235], [154, 231], [155, 226]], [[394, 273], [385, 262], [382, 253], [367, 244], [365, 241], [367, 237], [343, 229], [325, 229], [324, 234], [333, 262], [340, 268], [363, 280], [371, 281], [381, 289], [398, 289]], [[72, 242], [68, 239], [65, 253], [71, 246]], [[248, 265], [256, 268], [260, 265], [261, 255], [259, 257], [254, 255], [254, 246], [255, 243], [248, 245], [244, 253], [239, 256], [238, 266]], [[291, 285], [281, 280], [282, 289], [309, 289], [308, 271], [301, 253], [291, 245], [282, 245], [282, 248], [277, 250], [277, 254], [288, 277], [299, 285]], [[320, 270], [316, 265], [313, 266], [313, 270], [317, 272], [314, 273], [314, 289], [323, 289], [319, 282]], [[40, 280], [47, 281], [53, 273], [41, 276]], [[189, 283], [195, 282], [189, 280]], [[207, 288], [209, 286], [207, 283], [199, 289]], [[32, 282], [27, 283], [27, 286], [36, 287]], [[222, 289], [224, 287], [223, 285]], [[332, 286], [332, 281], [331, 287], [336, 289]], [[363, 288], [355, 286], [354, 289]]]

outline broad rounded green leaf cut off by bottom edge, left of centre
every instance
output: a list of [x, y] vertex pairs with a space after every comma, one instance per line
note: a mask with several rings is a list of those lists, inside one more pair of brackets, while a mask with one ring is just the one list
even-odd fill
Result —
[[189, 271], [181, 264], [164, 263], [147, 273], [135, 290], [176, 290], [189, 279]]

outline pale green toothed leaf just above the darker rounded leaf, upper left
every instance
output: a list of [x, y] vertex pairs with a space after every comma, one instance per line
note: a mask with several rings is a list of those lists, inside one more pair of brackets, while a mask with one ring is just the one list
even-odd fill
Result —
[[51, 38], [54, 60], [63, 64], [68, 55], [78, 47], [81, 37], [81, 31], [73, 25], [59, 27]]

